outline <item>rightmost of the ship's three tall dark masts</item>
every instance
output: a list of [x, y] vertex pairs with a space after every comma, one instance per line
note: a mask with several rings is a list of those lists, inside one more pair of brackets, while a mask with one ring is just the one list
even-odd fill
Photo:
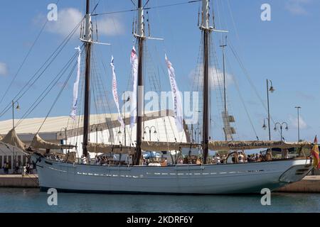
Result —
[[202, 23], [203, 33], [203, 164], [207, 163], [209, 142], [209, 89], [210, 89], [210, 15], [209, 0], [202, 1]]

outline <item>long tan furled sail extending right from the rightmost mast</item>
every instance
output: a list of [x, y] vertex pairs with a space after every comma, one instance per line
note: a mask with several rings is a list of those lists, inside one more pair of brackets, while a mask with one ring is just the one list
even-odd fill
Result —
[[210, 150], [254, 150], [261, 148], [311, 148], [309, 142], [284, 143], [283, 141], [209, 141]]

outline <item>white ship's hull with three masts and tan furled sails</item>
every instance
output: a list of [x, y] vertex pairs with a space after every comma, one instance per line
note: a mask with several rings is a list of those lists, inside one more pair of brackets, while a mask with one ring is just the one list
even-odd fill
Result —
[[[81, 40], [85, 45], [85, 94], [82, 151], [88, 153], [119, 153], [132, 156], [127, 165], [89, 165], [77, 162], [58, 162], [37, 152], [36, 148], [70, 148], [70, 145], [48, 144], [36, 135], [30, 148], [17, 140], [15, 132], [9, 133], [5, 141], [12, 140], [21, 149], [29, 150], [37, 166], [41, 190], [49, 188], [61, 192], [94, 192], [94, 193], [134, 193], [134, 194], [231, 194], [259, 193], [263, 188], [277, 189], [292, 182], [299, 181], [311, 170], [308, 158], [268, 160], [225, 165], [208, 164], [209, 150], [253, 150], [258, 148], [302, 148], [310, 143], [284, 143], [282, 141], [214, 141], [209, 138], [209, 94], [210, 94], [210, 35], [215, 28], [210, 27], [209, 0], [202, 1], [201, 33], [203, 37], [203, 133], [202, 142], [168, 143], [147, 142], [143, 140], [143, 106], [137, 99], [137, 138], [133, 146], [91, 143], [90, 133], [90, 72], [92, 45], [92, 23], [90, 1], [87, 0], [85, 16], [85, 33]], [[143, 87], [144, 43], [144, 4], [138, 1], [137, 38], [138, 67], [137, 86]], [[138, 89], [137, 93], [142, 92]], [[141, 97], [141, 94], [137, 94]], [[12, 139], [14, 138], [14, 139]], [[10, 142], [10, 141], [9, 141]], [[144, 150], [163, 151], [181, 150], [183, 148], [201, 148], [201, 163], [168, 166], [142, 165]]]

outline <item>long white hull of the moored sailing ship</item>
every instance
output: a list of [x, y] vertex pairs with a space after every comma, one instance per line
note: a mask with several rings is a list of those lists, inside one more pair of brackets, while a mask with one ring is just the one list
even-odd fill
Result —
[[60, 192], [123, 194], [260, 193], [302, 179], [310, 160], [173, 167], [72, 165], [33, 155], [39, 184]]

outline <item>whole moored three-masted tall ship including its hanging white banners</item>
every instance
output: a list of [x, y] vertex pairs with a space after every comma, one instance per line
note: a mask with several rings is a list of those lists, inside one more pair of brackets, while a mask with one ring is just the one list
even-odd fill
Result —
[[[18, 140], [13, 129], [4, 143], [17, 145], [31, 154], [34, 165], [38, 171], [38, 180], [41, 191], [45, 192], [50, 188], [55, 188], [58, 192], [85, 192], [85, 193], [121, 193], [121, 194], [241, 194], [260, 193], [262, 189], [278, 189], [286, 184], [297, 182], [305, 177], [312, 169], [312, 162], [309, 157], [283, 157], [272, 159], [270, 152], [272, 148], [311, 148], [311, 143], [285, 143], [284, 141], [237, 141], [230, 136], [230, 126], [225, 122], [225, 140], [218, 141], [210, 138], [210, 48], [211, 36], [215, 32], [220, 32], [214, 26], [210, 26], [210, 4], [209, 0], [202, 0], [202, 9], [199, 12], [199, 28], [202, 38], [202, 62], [201, 62], [201, 99], [203, 106], [201, 109], [201, 138], [198, 141], [189, 140], [184, 142], [168, 141], [147, 141], [144, 138], [144, 48], [146, 40], [152, 39], [146, 36], [145, 4], [143, 0], [137, 1], [137, 23], [133, 32], [137, 39], [137, 50], [132, 48], [132, 96], [131, 113], [129, 119], [123, 119], [119, 114], [119, 124], [127, 126], [127, 121], [133, 121], [136, 125], [135, 138], [130, 143], [92, 143], [90, 140], [90, 76], [92, 74], [92, 51], [94, 45], [101, 43], [94, 40], [92, 34], [92, 7], [90, 0], [86, 1], [86, 14], [80, 22], [82, 50], [85, 52], [84, 70], [84, 94], [83, 95], [83, 138], [79, 143], [73, 145], [55, 145], [48, 143], [36, 135], [31, 145], [26, 146]], [[171, 89], [176, 86], [174, 69], [171, 62], [166, 57], [169, 77], [171, 79]], [[111, 63], [112, 73], [114, 73], [113, 60]], [[78, 74], [80, 77], [80, 74]], [[114, 80], [115, 82], [115, 80]], [[114, 84], [113, 82], [113, 84]], [[75, 86], [78, 86], [77, 82]], [[76, 92], [78, 93], [78, 92]], [[178, 94], [174, 94], [174, 100], [179, 101]], [[117, 94], [114, 93], [115, 100]], [[76, 105], [77, 101], [75, 101]], [[119, 103], [117, 103], [119, 106]], [[118, 107], [119, 109], [119, 107]], [[177, 126], [181, 127], [182, 116], [179, 108], [175, 106], [174, 119]], [[225, 107], [224, 119], [228, 118], [228, 111]], [[124, 117], [126, 115], [124, 114]], [[131, 122], [132, 123], [132, 122]], [[121, 127], [122, 128], [122, 127]], [[150, 129], [151, 131], [151, 129]], [[132, 134], [133, 135], [133, 134]], [[193, 135], [193, 132], [192, 132]], [[67, 140], [65, 141], [67, 142]], [[70, 140], [69, 140], [70, 142]], [[50, 155], [53, 149], [73, 149], [82, 144], [82, 161], [80, 157], [75, 158], [75, 153], [69, 152], [65, 159], [54, 160]], [[46, 150], [45, 153], [40, 150]], [[267, 149], [265, 159], [261, 162], [238, 162], [238, 151]], [[170, 164], [160, 162], [154, 157], [154, 162], [147, 165], [144, 160], [146, 151], [150, 153], [175, 151], [176, 154], [183, 150], [190, 150], [190, 154], [198, 151], [199, 160], [193, 162], [178, 162], [173, 160]], [[209, 150], [216, 152], [227, 151], [228, 157], [223, 164], [212, 164], [209, 162]], [[86, 157], [90, 153], [97, 153], [102, 156], [121, 155], [127, 156], [126, 162], [119, 162], [117, 165], [109, 162], [107, 165], [99, 165]], [[187, 155], [188, 157], [191, 155]], [[105, 157], [104, 156], [104, 157]], [[99, 157], [99, 156], [98, 156]], [[152, 160], [152, 158], [150, 158]], [[233, 162], [228, 162], [233, 160]]]

